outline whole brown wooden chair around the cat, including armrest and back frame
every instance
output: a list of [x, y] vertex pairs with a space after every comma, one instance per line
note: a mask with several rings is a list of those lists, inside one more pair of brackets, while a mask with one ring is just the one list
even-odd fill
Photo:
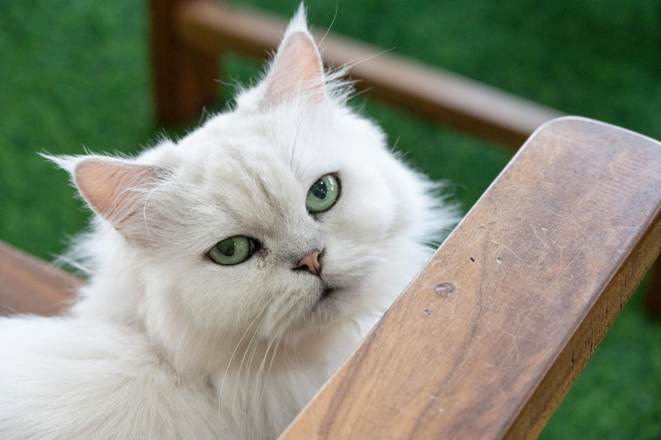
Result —
[[[262, 55], [284, 29], [275, 22], [277, 32], [263, 36], [272, 19], [199, 0], [152, 6], [156, 21], [176, 29], [154, 23], [164, 121], [213, 99], [213, 86], [198, 81], [209, 79], [218, 48], [233, 41]], [[231, 20], [220, 25], [221, 17]], [[326, 41], [336, 63], [378, 52]], [[167, 59], [164, 45], [180, 56]], [[554, 116], [399, 57], [377, 59], [354, 72], [377, 96], [479, 136], [513, 145]], [[390, 74], [419, 81], [401, 90]], [[180, 88], [165, 96], [159, 81]], [[445, 91], [430, 96], [423, 81]], [[454, 86], [459, 98], [445, 94]], [[501, 108], [521, 118], [503, 118]], [[532, 439], [660, 251], [661, 143], [585, 118], [544, 123], [280, 438]], [[80, 283], [0, 245], [3, 313], [59, 313]]]

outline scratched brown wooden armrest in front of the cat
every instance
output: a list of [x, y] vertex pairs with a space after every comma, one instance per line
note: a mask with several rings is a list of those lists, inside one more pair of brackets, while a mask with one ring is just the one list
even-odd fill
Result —
[[661, 249], [661, 143], [542, 127], [280, 439], [532, 439]]

